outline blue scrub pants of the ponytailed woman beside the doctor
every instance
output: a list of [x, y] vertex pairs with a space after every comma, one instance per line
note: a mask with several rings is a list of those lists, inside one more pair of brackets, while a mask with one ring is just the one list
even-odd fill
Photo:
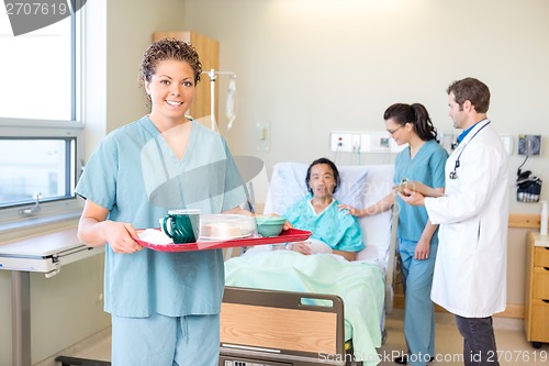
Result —
[[408, 365], [425, 366], [435, 356], [435, 307], [430, 300], [438, 243], [430, 245], [429, 257], [417, 260], [417, 242], [400, 240], [402, 285], [404, 288], [404, 336]]

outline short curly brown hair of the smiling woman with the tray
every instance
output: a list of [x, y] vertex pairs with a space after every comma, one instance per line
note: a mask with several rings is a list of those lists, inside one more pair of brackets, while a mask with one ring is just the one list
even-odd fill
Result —
[[197, 49], [192, 45], [176, 38], [161, 38], [148, 46], [141, 65], [141, 81], [150, 81], [153, 75], [156, 74], [158, 63], [166, 59], [188, 63], [194, 74], [194, 85], [199, 82], [202, 64]]

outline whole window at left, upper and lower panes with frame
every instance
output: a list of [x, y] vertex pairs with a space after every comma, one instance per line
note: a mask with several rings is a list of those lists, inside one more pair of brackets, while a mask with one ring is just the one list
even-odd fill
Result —
[[19, 36], [0, 14], [0, 224], [80, 209], [82, 14]]

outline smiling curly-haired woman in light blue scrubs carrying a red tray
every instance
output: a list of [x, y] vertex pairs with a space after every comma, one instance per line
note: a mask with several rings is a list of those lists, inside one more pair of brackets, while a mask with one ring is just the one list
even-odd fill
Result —
[[111, 132], [76, 188], [86, 199], [79, 239], [105, 245], [113, 365], [217, 365], [221, 251], [163, 253], [133, 240], [169, 209], [250, 214], [226, 142], [186, 118], [201, 71], [192, 46], [153, 43], [142, 63], [150, 113]]

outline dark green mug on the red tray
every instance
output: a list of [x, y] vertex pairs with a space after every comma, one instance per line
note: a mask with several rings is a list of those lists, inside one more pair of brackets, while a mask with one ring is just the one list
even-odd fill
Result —
[[169, 210], [161, 219], [163, 231], [175, 244], [194, 243], [200, 231], [200, 210]]

